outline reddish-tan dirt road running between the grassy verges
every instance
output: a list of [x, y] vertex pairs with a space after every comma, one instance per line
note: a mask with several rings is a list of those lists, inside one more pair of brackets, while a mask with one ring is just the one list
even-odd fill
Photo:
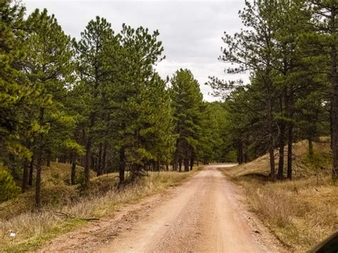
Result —
[[284, 252], [215, 166], [53, 240], [41, 252]]

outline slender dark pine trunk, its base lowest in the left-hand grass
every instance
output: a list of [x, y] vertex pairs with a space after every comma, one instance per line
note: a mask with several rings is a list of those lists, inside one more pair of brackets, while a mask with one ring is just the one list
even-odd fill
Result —
[[[40, 109], [39, 124], [43, 125], [44, 108]], [[36, 183], [35, 183], [35, 207], [36, 210], [41, 208], [41, 170], [43, 155], [43, 133], [39, 133], [36, 151]]]

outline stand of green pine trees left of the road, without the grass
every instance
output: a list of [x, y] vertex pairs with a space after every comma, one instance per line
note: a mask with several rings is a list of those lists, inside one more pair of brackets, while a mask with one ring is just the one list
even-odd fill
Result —
[[123, 24], [116, 33], [97, 16], [76, 41], [46, 9], [25, 17], [3, 1], [0, 13], [1, 201], [35, 187], [39, 209], [41, 170], [56, 161], [69, 164], [70, 185], [88, 188], [91, 171], [118, 172], [123, 185], [226, 159], [224, 106], [203, 101], [188, 69], [160, 78], [158, 31]]

